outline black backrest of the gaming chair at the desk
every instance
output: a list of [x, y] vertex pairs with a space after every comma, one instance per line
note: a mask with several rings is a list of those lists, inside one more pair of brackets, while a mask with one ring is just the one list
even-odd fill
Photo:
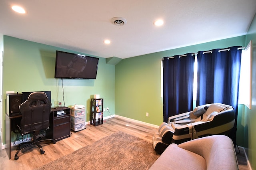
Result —
[[52, 103], [46, 93], [31, 93], [28, 99], [19, 106], [22, 114], [20, 130], [23, 134], [47, 129], [50, 125], [50, 111]]

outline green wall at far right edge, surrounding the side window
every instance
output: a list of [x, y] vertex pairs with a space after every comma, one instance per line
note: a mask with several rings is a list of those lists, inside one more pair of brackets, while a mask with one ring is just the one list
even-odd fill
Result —
[[246, 35], [246, 45], [252, 40], [252, 109], [244, 109], [244, 136], [248, 139], [247, 147], [248, 158], [253, 170], [256, 170], [256, 16]]

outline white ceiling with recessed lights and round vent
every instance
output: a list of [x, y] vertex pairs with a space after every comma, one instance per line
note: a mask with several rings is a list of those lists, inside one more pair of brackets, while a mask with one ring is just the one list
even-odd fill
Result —
[[[0, 34], [128, 58], [245, 35], [255, 13], [256, 0], [0, 0]], [[113, 17], [127, 24], [113, 25]], [[154, 26], [157, 19], [164, 25]]]

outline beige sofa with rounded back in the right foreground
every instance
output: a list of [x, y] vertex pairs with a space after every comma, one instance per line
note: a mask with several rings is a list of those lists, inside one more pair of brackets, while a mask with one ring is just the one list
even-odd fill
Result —
[[224, 135], [170, 144], [150, 170], [238, 170], [232, 140]]

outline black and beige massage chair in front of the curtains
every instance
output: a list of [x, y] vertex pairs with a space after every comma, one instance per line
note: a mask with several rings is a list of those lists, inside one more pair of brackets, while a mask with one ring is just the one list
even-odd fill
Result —
[[171, 116], [163, 122], [152, 140], [154, 150], [162, 154], [171, 144], [214, 134], [230, 135], [234, 127], [235, 111], [230, 105], [212, 103], [196, 107], [193, 111]]

